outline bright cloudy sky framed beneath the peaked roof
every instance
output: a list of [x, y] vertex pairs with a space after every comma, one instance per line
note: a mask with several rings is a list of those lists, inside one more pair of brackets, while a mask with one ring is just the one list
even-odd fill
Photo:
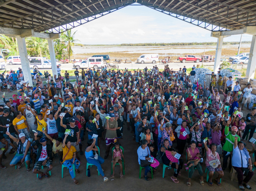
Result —
[[[72, 30], [81, 44], [216, 42], [211, 31], [146, 6], [126, 6]], [[224, 38], [238, 42], [241, 35]], [[243, 34], [242, 41], [251, 35]]]

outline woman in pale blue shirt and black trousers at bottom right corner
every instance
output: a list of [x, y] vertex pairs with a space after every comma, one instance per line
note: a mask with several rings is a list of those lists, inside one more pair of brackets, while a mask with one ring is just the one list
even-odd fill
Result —
[[[251, 187], [248, 182], [253, 176], [253, 165], [251, 163], [251, 157], [249, 152], [244, 147], [243, 141], [238, 141], [238, 137], [235, 137], [233, 146], [232, 166], [237, 172], [238, 185], [241, 190], [244, 190], [244, 186], [248, 189]], [[246, 176], [243, 180], [243, 176]]]

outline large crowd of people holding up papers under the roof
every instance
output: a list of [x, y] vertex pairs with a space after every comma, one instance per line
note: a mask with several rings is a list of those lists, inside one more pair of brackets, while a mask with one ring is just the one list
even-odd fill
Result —
[[[73, 182], [78, 184], [75, 174], [80, 173], [80, 154], [80, 157], [85, 155], [88, 163], [96, 165], [107, 181], [101, 164], [111, 151], [110, 177], [114, 178], [118, 163], [123, 178], [126, 145], [121, 146], [120, 142], [126, 123], [137, 142], [138, 148], [134, 149], [140, 167], [145, 168], [145, 180], [149, 180], [150, 170], [159, 171], [158, 166], [163, 163], [174, 169], [171, 176], [174, 183], [179, 183], [178, 175], [185, 169], [189, 170], [187, 186], [192, 186], [195, 170], [200, 175], [200, 184], [204, 185], [202, 165], [205, 163], [208, 185], [213, 186], [216, 171], [215, 181], [220, 186], [229, 159], [228, 168], [238, 173], [239, 188], [251, 189], [248, 182], [253, 176], [253, 161], [249, 153], [254, 152], [254, 144], [253, 151], [248, 151], [242, 140], [249, 131], [249, 139], [253, 137], [256, 108], [243, 117], [238, 106], [241, 99], [245, 107], [249, 103], [248, 95], [252, 91], [249, 83], [241, 94], [238, 84], [236, 91], [231, 91], [231, 76], [226, 86], [221, 75], [216, 81], [215, 73], [209, 86], [198, 84], [195, 66], [190, 72], [185, 66], [173, 71], [168, 65], [161, 72], [155, 65], [133, 71], [76, 69], [74, 74], [74, 84], [70, 83], [67, 71], [64, 77], [60, 70], [53, 79], [48, 75], [46, 84], [40, 75], [35, 75], [35, 87], [22, 81], [18, 82], [17, 94], [8, 99], [2, 95], [5, 104], [0, 105], [0, 168], [5, 169], [7, 165], [2, 159], [15, 153], [10, 166], [21, 168], [25, 163], [29, 172], [33, 165], [33, 173], [41, 180], [44, 176], [49, 178], [56, 158], [69, 168]], [[86, 147], [82, 144], [85, 140], [88, 140]], [[101, 141], [106, 141], [104, 159], [97, 153]], [[44, 172], [40, 170], [42, 166], [47, 167]]]

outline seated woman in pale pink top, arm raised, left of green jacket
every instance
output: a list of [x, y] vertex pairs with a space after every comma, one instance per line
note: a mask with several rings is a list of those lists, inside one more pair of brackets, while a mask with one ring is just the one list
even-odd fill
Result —
[[[208, 139], [208, 142], [210, 143], [209, 139]], [[213, 173], [216, 171], [219, 174], [219, 176], [215, 179], [215, 181], [217, 185], [220, 186], [221, 185], [220, 179], [223, 177], [224, 173], [220, 164], [220, 155], [218, 154], [218, 152], [216, 152], [217, 145], [213, 143], [210, 145], [210, 149], [209, 149], [207, 147], [206, 141], [204, 142], [204, 144], [206, 149], [205, 165], [206, 165], [206, 168], [208, 168], [209, 170], [209, 185], [210, 186], [213, 185], [213, 181], [211, 180], [211, 178], [213, 177]], [[211, 165], [212, 160], [217, 163], [218, 166], [216, 168], [212, 167]]]

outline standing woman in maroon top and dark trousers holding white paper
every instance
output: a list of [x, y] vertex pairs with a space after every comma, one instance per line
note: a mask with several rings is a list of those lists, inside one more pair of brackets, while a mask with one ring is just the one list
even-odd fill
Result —
[[187, 126], [187, 121], [183, 120], [182, 124], [175, 129], [175, 132], [177, 133], [178, 154], [181, 154], [182, 157], [184, 157], [183, 151], [187, 141], [187, 134], [190, 133], [189, 128]]

